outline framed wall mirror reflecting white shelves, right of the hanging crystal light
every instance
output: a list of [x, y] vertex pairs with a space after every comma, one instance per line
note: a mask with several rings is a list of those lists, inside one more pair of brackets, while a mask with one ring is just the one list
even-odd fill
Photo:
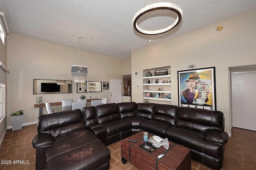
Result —
[[84, 83], [76, 83], [76, 92], [77, 93], [102, 92], [101, 82], [88, 81]]

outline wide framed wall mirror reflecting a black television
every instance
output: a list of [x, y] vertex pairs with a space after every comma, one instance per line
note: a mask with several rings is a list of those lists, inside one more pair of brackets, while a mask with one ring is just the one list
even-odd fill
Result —
[[33, 94], [56, 93], [72, 93], [72, 81], [33, 79]]

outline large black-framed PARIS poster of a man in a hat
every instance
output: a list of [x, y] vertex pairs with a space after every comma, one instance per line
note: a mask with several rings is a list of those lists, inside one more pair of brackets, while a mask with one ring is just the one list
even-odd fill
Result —
[[178, 71], [179, 107], [216, 110], [215, 67]]

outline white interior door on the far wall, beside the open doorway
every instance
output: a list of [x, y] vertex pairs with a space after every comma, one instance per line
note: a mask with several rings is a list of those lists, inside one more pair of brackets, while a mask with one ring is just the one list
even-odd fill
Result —
[[121, 89], [120, 79], [110, 79], [110, 103], [122, 102]]

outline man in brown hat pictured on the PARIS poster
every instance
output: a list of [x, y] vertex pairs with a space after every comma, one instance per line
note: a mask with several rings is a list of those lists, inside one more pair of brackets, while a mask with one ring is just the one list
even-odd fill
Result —
[[[198, 88], [195, 87], [196, 80], [199, 79], [200, 77], [197, 72], [193, 72], [188, 76], [188, 80], [185, 80], [185, 82], [188, 82], [188, 84], [186, 84], [187, 89], [182, 91], [182, 95], [184, 99], [190, 104], [194, 102], [194, 98], [198, 98]], [[206, 92], [206, 96], [211, 92], [209, 87], [206, 88], [204, 91]], [[205, 102], [208, 102], [208, 97], [206, 98]]]

